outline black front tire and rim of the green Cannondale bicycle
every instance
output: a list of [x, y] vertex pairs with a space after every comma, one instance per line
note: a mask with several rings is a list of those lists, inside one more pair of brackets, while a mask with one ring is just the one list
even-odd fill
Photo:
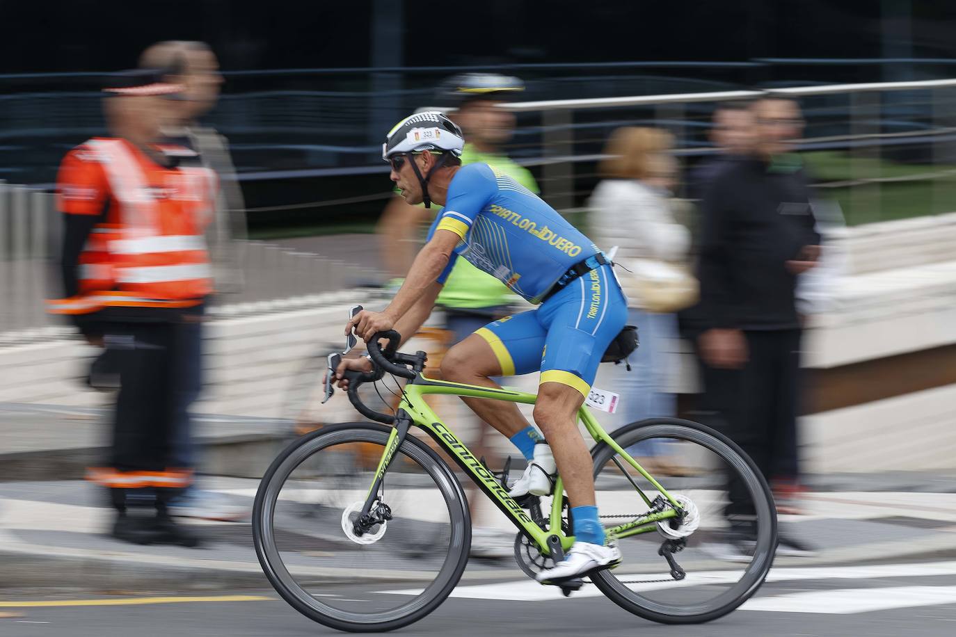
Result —
[[382, 613], [350, 613], [315, 599], [295, 582], [283, 563], [273, 535], [272, 516], [282, 485], [294, 468], [323, 448], [343, 441], [371, 442], [383, 448], [390, 431], [391, 428], [379, 424], [351, 422], [323, 427], [297, 438], [272, 461], [256, 492], [252, 508], [252, 538], [263, 572], [287, 603], [323, 626], [350, 632], [383, 632], [408, 626], [441, 605], [465, 570], [471, 542], [471, 522], [465, 492], [441, 457], [412, 435], [402, 442], [398, 454], [419, 463], [427, 475], [435, 480], [437, 489], [448, 505], [452, 528], [452, 541], [445, 565], [439, 577], [425, 586], [421, 595], [405, 605]]

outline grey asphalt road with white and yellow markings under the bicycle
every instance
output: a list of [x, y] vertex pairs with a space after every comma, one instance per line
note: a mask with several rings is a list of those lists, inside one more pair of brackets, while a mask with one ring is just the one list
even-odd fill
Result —
[[[945, 564], [949, 565], [880, 565], [878, 571], [873, 567], [815, 567], [789, 574], [779, 569], [777, 581], [765, 584], [748, 605], [702, 626], [647, 622], [595, 591], [588, 593], [587, 587], [568, 600], [531, 601], [534, 588], [525, 585], [532, 584], [528, 580], [511, 579], [491, 586], [463, 584], [455, 593], [459, 597], [449, 598], [423, 621], [396, 634], [942, 637], [956, 634], [956, 563]], [[338, 593], [342, 597], [368, 595], [349, 587], [338, 589]], [[6, 589], [0, 591], [0, 634], [279, 637], [341, 633], [299, 615], [272, 590], [130, 595], [123, 591]]]

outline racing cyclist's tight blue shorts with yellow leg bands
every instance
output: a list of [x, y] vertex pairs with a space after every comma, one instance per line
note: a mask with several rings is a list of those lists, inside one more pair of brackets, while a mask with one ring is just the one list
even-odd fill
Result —
[[611, 265], [601, 265], [538, 308], [475, 333], [494, 350], [503, 376], [540, 370], [539, 383], [568, 385], [586, 397], [604, 350], [626, 321], [627, 299]]

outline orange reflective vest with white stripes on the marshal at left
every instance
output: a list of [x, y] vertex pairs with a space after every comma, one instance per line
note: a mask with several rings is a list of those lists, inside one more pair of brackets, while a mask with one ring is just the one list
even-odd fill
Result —
[[65, 214], [102, 214], [79, 258], [79, 293], [54, 313], [110, 306], [182, 308], [212, 291], [203, 230], [218, 184], [205, 167], [166, 167], [125, 139], [93, 138], [63, 160]]

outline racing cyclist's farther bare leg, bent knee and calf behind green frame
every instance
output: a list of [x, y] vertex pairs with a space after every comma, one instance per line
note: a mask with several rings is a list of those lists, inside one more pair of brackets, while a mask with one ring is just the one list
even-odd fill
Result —
[[[442, 359], [442, 378], [453, 383], [501, 389], [500, 385], [489, 378], [500, 375], [501, 364], [497, 356], [488, 341], [477, 334], [471, 334], [452, 347]], [[479, 418], [507, 437], [517, 434], [531, 424], [518, 411], [515, 403], [484, 398], [463, 397], [462, 400]]]

